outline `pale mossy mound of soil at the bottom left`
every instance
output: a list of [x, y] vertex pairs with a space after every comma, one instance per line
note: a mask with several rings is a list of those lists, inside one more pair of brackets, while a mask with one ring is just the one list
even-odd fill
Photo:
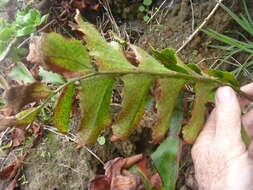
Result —
[[77, 151], [75, 146], [55, 134], [47, 135], [31, 150], [23, 172], [28, 183], [22, 189], [87, 189], [95, 175], [89, 164], [91, 155], [85, 149]]

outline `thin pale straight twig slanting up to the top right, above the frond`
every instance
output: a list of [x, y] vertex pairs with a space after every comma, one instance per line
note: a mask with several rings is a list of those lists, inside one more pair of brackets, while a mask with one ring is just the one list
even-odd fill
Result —
[[219, 0], [213, 10], [209, 13], [209, 15], [205, 18], [205, 20], [199, 25], [199, 27], [188, 37], [188, 39], [183, 43], [183, 45], [177, 50], [177, 53], [180, 52], [185, 46], [192, 41], [195, 35], [205, 26], [205, 24], [209, 21], [209, 19], [214, 15], [220, 4], [223, 0]]

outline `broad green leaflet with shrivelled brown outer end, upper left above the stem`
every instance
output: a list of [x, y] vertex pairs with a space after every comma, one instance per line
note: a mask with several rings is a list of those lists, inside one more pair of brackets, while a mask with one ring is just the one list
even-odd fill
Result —
[[67, 76], [93, 71], [85, 46], [78, 40], [67, 39], [57, 33], [35, 37], [27, 60]]

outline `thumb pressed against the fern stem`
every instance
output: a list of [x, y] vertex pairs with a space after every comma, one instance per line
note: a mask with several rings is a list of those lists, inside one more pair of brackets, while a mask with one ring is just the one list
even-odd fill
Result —
[[228, 141], [231, 146], [242, 142], [239, 101], [236, 93], [228, 86], [216, 92], [216, 138]]

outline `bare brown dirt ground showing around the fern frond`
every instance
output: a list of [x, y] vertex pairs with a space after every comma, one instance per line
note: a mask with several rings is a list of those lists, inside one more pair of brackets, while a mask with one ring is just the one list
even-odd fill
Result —
[[[122, 36], [147, 50], [149, 44], [159, 49], [165, 47], [178, 49], [193, 30], [203, 22], [215, 5], [213, 0], [193, 1], [193, 7], [191, 7], [189, 0], [175, 1], [173, 6], [170, 7], [168, 4], [159, 10], [154, 19], [146, 24], [142, 19], [143, 13], [138, 11], [141, 1], [117, 0], [109, 3]], [[156, 6], [161, 3], [162, 1], [155, 2]], [[233, 1], [233, 4], [228, 4], [228, 6], [237, 11], [239, 9], [237, 3]], [[50, 7], [50, 4], [41, 7], [45, 11], [47, 10], [45, 7], [48, 6]], [[96, 14], [96, 16], [101, 17], [101, 14]], [[93, 15], [89, 19], [94, 21], [96, 16]], [[113, 23], [107, 19], [108, 17], [105, 17], [104, 20], [99, 19], [98, 27], [100, 29], [115, 29]], [[227, 13], [218, 9], [212, 19], [209, 20], [207, 27], [223, 32], [233, 25], [234, 23]], [[214, 60], [224, 54], [221, 51], [210, 49], [208, 45], [211, 42], [210, 38], [200, 32], [179, 55], [185, 62], [210, 66], [213, 61], [203, 61], [203, 59]], [[148, 127], [147, 125], [151, 123], [150, 120], [152, 120], [152, 116], [151, 118], [144, 117], [142, 127]], [[111, 143], [108, 138], [105, 145], [97, 144], [90, 149], [103, 161], [118, 156], [134, 155], [143, 152], [144, 149], [145, 153], [148, 154], [155, 149], [155, 146], [148, 144], [147, 133], [148, 130], [140, 129], [126, 142]], [[110, 136], [110, 130], [105, 132], [105, 136]], [[102, 165], [86, 149], [76, 150], [75, 146], [75, 143], [70, 142], [69, 139], [43, 131], [42, 138], [36, 147], [30, 150], [26, 150], [24, 147], [15, 150], [16, 154], [24, 151], [30, 152], [29, 158], [22, 168], [20, 189], [86, 190], [88, 181], [95, 175], [103, 173]], [[185, 145], [183, 148], [177, 190], [198, 189], [194, 179], [190, 148], [189, 145]], [[0, 156], [5, 158], [1, 167], [12, 160], [10, 153], [2, 152]], [[7, 183], [0, 182], [0, 189], [4, 189], [6, 185]]]

